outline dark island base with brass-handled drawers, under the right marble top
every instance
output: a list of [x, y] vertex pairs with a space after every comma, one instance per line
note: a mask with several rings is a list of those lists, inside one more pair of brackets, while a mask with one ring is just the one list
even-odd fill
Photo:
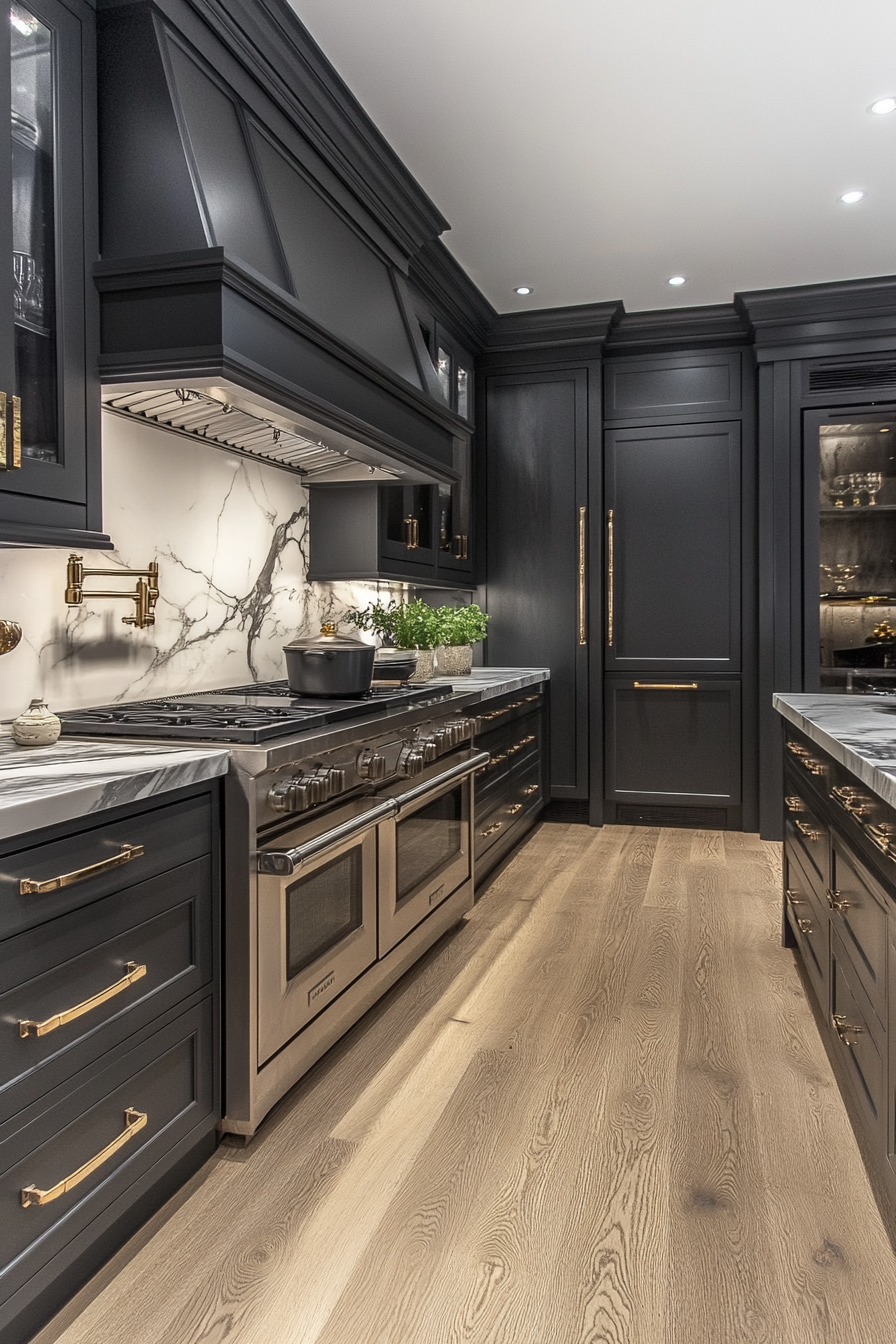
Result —
[[785, 941], [799, 954], [875, 1187], [896, 1210], [896, 809], [787, 726]]

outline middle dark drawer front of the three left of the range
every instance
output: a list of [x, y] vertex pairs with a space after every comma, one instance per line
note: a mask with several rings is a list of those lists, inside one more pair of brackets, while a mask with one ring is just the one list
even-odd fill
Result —
[[197, 859], [5, 943], [0, 1122], [211, 981], [210, 870]]

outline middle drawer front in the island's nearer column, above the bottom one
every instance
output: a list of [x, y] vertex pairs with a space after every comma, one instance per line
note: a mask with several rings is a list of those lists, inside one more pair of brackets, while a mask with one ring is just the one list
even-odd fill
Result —
[[846, 949], [861, 988], [880, 1017], [887, 1003], [887, 896], [870, 872], [834, 836], [832, 845], [832, 923]]

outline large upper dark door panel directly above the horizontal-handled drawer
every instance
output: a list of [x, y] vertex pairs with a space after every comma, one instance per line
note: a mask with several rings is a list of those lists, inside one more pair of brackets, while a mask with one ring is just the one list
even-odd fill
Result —
[[740, 426], [606, 435], [607, 668], [740, 667]]

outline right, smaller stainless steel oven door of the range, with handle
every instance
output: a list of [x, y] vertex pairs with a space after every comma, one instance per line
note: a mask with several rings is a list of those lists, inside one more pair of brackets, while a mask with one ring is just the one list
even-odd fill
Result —
[[473, 771], [488, 759], [488, 751], [453, 755], [391, 794], [398, 813], [380, 827], [380, 957], [472, 882]]

